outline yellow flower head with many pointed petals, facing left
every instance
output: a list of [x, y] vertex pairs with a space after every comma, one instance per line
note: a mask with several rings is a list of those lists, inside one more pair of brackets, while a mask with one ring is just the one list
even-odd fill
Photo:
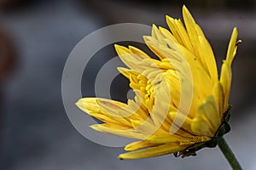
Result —
[[[102, 133], [138, 139], [125, 146], [120, 159], [138, 159], [174, 153], [194, 156], [228, 130], [231, 63], [236, 55], [234, 28], [221, 75], [211, 45], [183, 6], [183, 20], [166, 16], [171, 31], [153, 26], [144, 41], [159, 59], [142, 50], [115, 45], [130, 69], [118, 68], [136, 94], [127, 104], [111, 99], [84, 98], [77, 105], [101, 120], [91, 127]], [[226, 126], [224, 126], [226, 127]], [[219, 132], [221, 129], [222, 132]]]

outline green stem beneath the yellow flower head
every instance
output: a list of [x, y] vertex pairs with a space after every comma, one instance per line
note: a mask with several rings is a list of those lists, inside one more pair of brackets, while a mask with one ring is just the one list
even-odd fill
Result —
[[225, 139], [223, 137], [218, 139], [218, 148], [222, 151], [226, 159], [229, 161], [230, 166], [234, 170], [241, 170], [241, 165], [236, 160], [236, 157], [232, 150], [230, 150], [230, 146], [226, 143]]

